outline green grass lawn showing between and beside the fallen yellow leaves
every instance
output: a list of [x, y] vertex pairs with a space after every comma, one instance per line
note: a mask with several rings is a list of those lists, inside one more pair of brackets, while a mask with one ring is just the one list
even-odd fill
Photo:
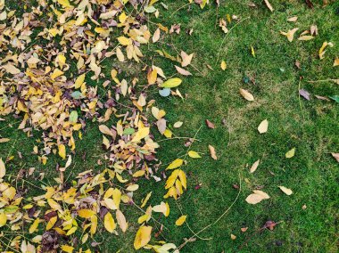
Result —
[[[161, 10], [160, 18], [152, 17], [151, 20], [168, 27], [180, 23], [181, 33], [168, 35], [165, 41], [150, 45], [148, 53], [145, 48], [146, 58], [143, 61], [153, 62], [168, 76], [174, 75], [173, 62], [161, 58], [153, 50], [162, 48], [172, 55], [176, 54], [176, 49], [184, 50], [194, 53], [193, 65], [204, 75], [188, 68], [194, 77], [184, 78], [180, 86], [181, 93], [187, 96], [184, 101], [172, 96], [162, 98], [156, 90], [153, 91], [157, 106], [166, 110], [166, 118], [171, 124], [184, 121], [176, 135], [193, 136], [203, 126], [197, 135], [201, 142], [194, 143], [192, 149], [205, 155], [203, 159], [190, 159], [184, 167], [188, 175], [188, 191], [178, 200], [194, 232], [213, 223], [231, 205], [237, 194], [232, 184], [239, 184], [239, 176], [242, 180], [242, 192], [227, 216], [200, 234], [211, 240], [187, 243], [182, 252], [336, 252], [338, 163], [330, 152], [339, 151], [339, 109], [335, 102], [319, 101], [314, 94], [339, 94], [339, 86], [330, 82], [311, 84], [305, 80], [339, 78], [339, 67], [332, 67], [335, 56], [339, 56], [339, 3], [329, 1], [331, 3], [322, 8], [318, 4], [322, 1], [313, 1], [315, 8], [311, 10], [303, 1], [271, 0], [275, 7], [275, 12], [271, 13], [259, 0], [253, 1], [257, 8], [248, 7], [247, 1], [220, 1], [219, 17], [226, 19], [227, 13], [241, 19], [249, 17], [232, 29], [220, 48], [225, 35], [216, 25], [214, 3], [203, 10], [191, 4], [171, 15], [186, 1], [163, 2], [168, 4], [169, 11], [157, 4]], [[294, 15], [298, 16], [295, 23], [286, 21]], [[235, 23], [233, 21], [228, 28]], [[297, 41], [295, 37], [289, 43], [279, 34], [280, 30], [294, 27], [300, 29], [299, 34], [310, 29], [312, 24], [317, 24], [319, 35], [310, 41]], [[155, 30], [153, 24], [150, 28]], [[186, 34], [188, 29], [194, 29], [191, 37]], [[320, 61], [318, 49], [324, 41], [331, 41], [335, 46], [328, 48], [326, 58]], [[251, 46], [255, 49], [255, 58], [252, 57]], [[216, 62], [218, 53], [219, 61], [227, 61], [226, 71], [219, 68], [220, 62]], [[296, 60], [301, 62], [302, 69], [295, 68]], [[107, 64], [107, 68], [111, 69], [112, 63]], [[207, 64], [214, 70], [208, 69]], [[243, 79], [246, 76], [255, 77], [255, 85], [245, 84]], [[310, 102], [299, 98], [299, 86], [312, 94]], [[255, 101], [244, 101], [239, 88], [250, 90]], [[223, 118], [227, 126], [221, 123]], [[269, 120], [269, 132], [259, 135], [257, 126], [265, 118]], [[205, 126], [205, 119], [210, 119], [216, 129]], [[0, 121], [1, 135], [12, 139], [10, 143], [0, 144], [0, 156], [3, 159], [15, 156], [9, 165], [13, 171], [21, 167], [37, 167], [35, 175], [45, 173], [44, 181], [53, 184], [53, 178], [57, 176], [55, 164], [61, 159], [51, 155], [47, 166], [39, 164], [37, 156], [30, 155], [30, 152], [40, 133], [35, 133], [34, 138], [27, 138], [21, 131], [15, 130], [19, 124], [14, 123], [16, 121], [18, 119], [12, 117]], [[12, 127], [7, 126], [9, 123]], [[154, 129], [156, 135], [155, 132]], [[97, 124], [88, 124], [83, 140], [77, 142], [74, 167], [70, 167], [68, 172], [76, 175], [81, 170], [103, 169], [103, 166], [97, 165], [103, 154], [101, 143]], [[161, 142], [158, 154], [161, 161], [167, 164], [185, 154], [184, 143], [183, 140]], [[216, 148], [218, 160], [210, 158], [208, 144]], [[294, 158], [285, 159], [285, 152], [294, 147]], [[22, 152], [23, 159], [18, 158], [17, 151]], [[257, 159], [261, 161], [260, 166], [254, 174], [249, 174], [248, 167]], [[149, 191], [154, 193], [152, 205], [162, 200], [165, 193], [163, 184], [141, 184], [142, 190], [136, 201]], [[194, 189], [197, 184], [202, 184], [201, 189]], [[285, 195], [277, 188], [278, 185], [291, 188], [294, 194]], [[252, 189], [258, 187], [263, 187], [270, 199], [249, 205], [244, 200]], [[169, 203], [169, 218], [155, 216], [170, 227], [170, 231], [165, 230], [158, 240], [180, 245], [183, 238], [191, 237], [192, 233], [185, 225], [173, 226], [180, 213], [174, 200], [169, 200]], [[302, 209], [303, 205], [307, 208]], [[107, 236], [104, 241], [98, 236], [98, 241], [103, 242], [99, 246], [100, 251], [134, 250], [136, 209], [124, 207], [123, 211], [129, 217], [131, 228], [126, 235], [118, 237], [103, 233], [104, 237]], [[268, 220], [281, 223], [273, 231], [256, 233]], [[242, 233], [241, 227], [248, 227], [247, 232]], [[231, 240], [231, 233], [236, 235], [235, 241]]]

